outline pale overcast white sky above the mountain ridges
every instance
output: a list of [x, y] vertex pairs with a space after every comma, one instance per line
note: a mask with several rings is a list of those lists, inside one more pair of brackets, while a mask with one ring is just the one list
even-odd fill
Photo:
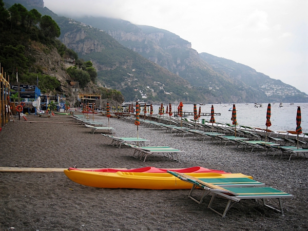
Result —
[[44, 0], [59, 15], [116, 17], [168, 30], [308, 94], [307, 0]]

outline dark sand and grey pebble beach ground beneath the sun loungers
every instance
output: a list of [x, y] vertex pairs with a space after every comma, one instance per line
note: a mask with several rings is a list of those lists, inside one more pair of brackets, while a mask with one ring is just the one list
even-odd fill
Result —
[[[132, 157], [133, 149], [111, 146], [100, 132], [90, 133], [68, 115], [51, 118], [27, 115], [10, 121], [0, 132], [0, 167], [23, 168], [186, 168], [202, 166], [253, 176], [266, 186], [288, 192], [284, 215], [242, 200], [225, 218], [187, 198], [189, 190], [93, 188], [69, 180], [63, 172], [0, 172], [0, 230], [307, 230], [308, 160], [302, 155], [273, 157], [246, 152], [234, 144], [174, 136], [164, 130], [139, 126], [147, 145], [183, 150], [176, 162], [152, 155], [146, 162]], [[90, 115], [92, 119], [92, 115]], [[108, 124], [98, 114], [94, 120]], [[136, 136], [137, 126], [111, 118], [117, 137]], [[202, 191], [200, 190], [200, 193]], [[217, 206], [225, 205], [218, 199]]]

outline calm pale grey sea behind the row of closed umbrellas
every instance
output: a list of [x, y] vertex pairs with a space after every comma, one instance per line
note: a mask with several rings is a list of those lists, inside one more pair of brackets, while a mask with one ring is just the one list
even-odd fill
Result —
[[[169, 104], [168, 104], [169, 105]], [[177, 108], [178, 105], [171, 104], [172, 111]], [[233, 104], [213, 104], [215, 113], [221, 113], [221, 115], [215, 115], [215, 120], [218, 123], [232, 123], [232, 107]], [[160, 105], [153, 105], [154, 113], [158, 113]], [[166, 109], [167, 105], [164, 105]], [[199, 104], [197, 104], [197, 111], [199, 112]], [[268, 129], [273, 131], [286, 131], [296, 129], [296, 113], [297, 106], [301, 109], [301, 127], [302, 132], [308, 132], [308, 103], [283, 103], [282, 107], [279, 107], [279, 103], [271, 104], [271, 122], [272, 126]], [[210, 113], [211, 104], [201, 105], [201, 112]], [[231, 108], [231, 111], [229, 109]], [[267, 104], [263, 104], [262, 107], [255, 107], [255, 104], [236, 104], [237, 122], [239, 125], [245, 125], [249, 127], [266, 128], [266, 110]], [[184, 104], [183, 111], [193, 112], [193, 104]], [[187, 119], [192, 119], [193, 116], [188, 116]], [[209, 120], [210, 116], [201, 117], [200, 119]]]

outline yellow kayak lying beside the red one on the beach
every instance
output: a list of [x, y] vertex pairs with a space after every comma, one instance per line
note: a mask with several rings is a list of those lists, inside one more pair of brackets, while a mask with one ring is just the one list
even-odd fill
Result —
[[[139, 189], [190, 189], [191, 184], [168, 173], [148, 172], [95, 172], [64, 170], [72, 181], [97, 188], [139, 188]], [[218, 174], [215, 172], [186, 173], [196, 178], [250, 178], [243, 174]]]

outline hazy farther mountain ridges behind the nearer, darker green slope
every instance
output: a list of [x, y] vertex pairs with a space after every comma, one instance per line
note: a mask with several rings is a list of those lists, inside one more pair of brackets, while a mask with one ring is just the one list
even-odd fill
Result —
[[78, 20], [106, 31], [125, 47], [178, 74], [205, 93], [209, 101], [308, 102], [307, 94], [248, 66], [237, 64], [230, 65], [229, 70], [223, 68], [219, 65], [222, 58], [198, 54], [189, 42], [169, 31], [105, 17]]

